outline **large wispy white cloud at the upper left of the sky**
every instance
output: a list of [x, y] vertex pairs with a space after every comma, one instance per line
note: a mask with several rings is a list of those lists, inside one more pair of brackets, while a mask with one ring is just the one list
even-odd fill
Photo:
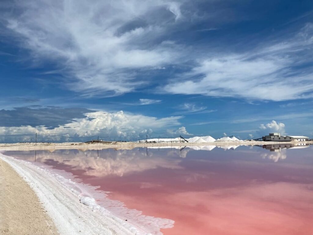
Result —
[[[86, 96], [130, 92], [148, 81], [136, 70], [177, 59], [174, 42], [156, 41], [182, 17], [176, 1], [16, 1], [1, 19], [38, 63], [55, 63], [65, 85]], [[153, 20], [151, 14], [164, 18]], [[159, 13], [159, 14], [158, 14]], [[29, 60], [29, 58], [28, 58]]]

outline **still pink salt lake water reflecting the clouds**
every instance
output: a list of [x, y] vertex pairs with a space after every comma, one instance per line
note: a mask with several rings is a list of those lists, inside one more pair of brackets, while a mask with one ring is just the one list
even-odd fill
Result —
[[[313, 234], [312, 147], [276, 151], [57, 150], [37, 151], [36, 161], [110, 191], [129, 209], [175, 221], [163, 234]], [[34, 161], [35, 153], [6, 154]]]

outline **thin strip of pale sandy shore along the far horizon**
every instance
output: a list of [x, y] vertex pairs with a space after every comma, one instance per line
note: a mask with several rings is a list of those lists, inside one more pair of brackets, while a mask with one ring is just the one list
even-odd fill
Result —
[[10, 150], [49, 150], [49, 149], [133, 149], [138, 147], [174, 147], [174, 146], [232, 146], [232, 145], [270, 145], [270, 144], [313, 144], [313, 141], [289, 141], [289, 142], [269, 142], [269, 141], [233, 141], [233, 142], [205, 142], [205, 143], [137, 143], [137, 142], [113, 142], [112, 144], [86, 144], [81, 142], [65, 143], [16, 143], [0, 144], [0, 151]]

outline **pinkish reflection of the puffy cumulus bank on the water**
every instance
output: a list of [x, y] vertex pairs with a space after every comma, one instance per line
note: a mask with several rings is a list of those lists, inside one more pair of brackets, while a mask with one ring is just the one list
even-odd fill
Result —
[[[105, 153], [105, 158], [98, 157], [94, 151], [77, 151], [75, 154], [60, 154], [59, 151], [53, 153], [42, 152], [37, 154], [37, 161], [45, 162], [52, 159], [60, 164], [71, 166], [74, 170], [82, 170], [85, 175], [102, 177], [106, 175], [123, 176], [130, 172], [141, 172], [157, 167], [179, 169], [180, 159], [175, 157], [154, 156], [153, 151], [138, 153], [138, 150], [119, 150]], [[25, 156], [25, 159], [32, 160], [33, 155]]]

